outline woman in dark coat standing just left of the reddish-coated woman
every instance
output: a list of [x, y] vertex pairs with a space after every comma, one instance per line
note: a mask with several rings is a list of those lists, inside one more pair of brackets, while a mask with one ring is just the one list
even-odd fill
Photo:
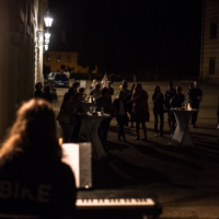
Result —
[[123, 137], [124, 141], [126, 141], [124, 126], [128, 126], [128, 116], [127, 116], [127, 102], [126, 102], [126, 93], [125, 91], [120, 91], [118, 94], [118, 99], [114, 100], [113, 105], [116, 107], [117, 116], [116, 120], [118, 122], [118, 140], [120, 141], [120, 137]]

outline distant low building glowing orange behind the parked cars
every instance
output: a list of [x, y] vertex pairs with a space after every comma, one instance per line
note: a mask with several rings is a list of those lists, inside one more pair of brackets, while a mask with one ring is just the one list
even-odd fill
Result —
[[[76, 73], [88, 73], [89, 68], [83, 68], [79, 66], [78, 62], [78, 53], [72, 51], [47, 51], [44, 56], [44, 65], [50, 67], [51, 72], [61, 72], [61, 65], [66, 67], [69, 66], [70, 68], [74, 68]], [[97, 67], [92, 73], [96, 73]]]

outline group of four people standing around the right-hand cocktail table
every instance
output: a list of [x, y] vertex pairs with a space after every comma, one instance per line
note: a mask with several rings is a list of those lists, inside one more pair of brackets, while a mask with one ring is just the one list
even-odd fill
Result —
[[[198, 82], [195, 81], [189, 85], [189, 89], [185, 95], [182, 93], [182, 87], [174, 88], [173, 82], [169, 83], [169, 89], [165, 93], [161, 93], [159, 85], [155, 87], [152, 101], [153, 101], [153, 115], [154, 115], [154, 130], [155, 136], [163, 136], [163, 119], [164, 113], [168, 113], [168, 123], [171, 130], [171, 136], [173, 135], [177, 124], [173, 112], [171, 108], [185, 107], [189, 104], [191, 108], [196, 108], [192, 116], [192, 128], [197, 128], [196, 120], [199, 110], [199, 103], [203, 99], [203, 91], [198, 88]], [[160, 117], [160, 134], [158, 132], [158, 117]]]

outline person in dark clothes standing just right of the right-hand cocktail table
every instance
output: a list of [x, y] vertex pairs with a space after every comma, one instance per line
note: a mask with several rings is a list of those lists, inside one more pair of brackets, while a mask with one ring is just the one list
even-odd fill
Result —
[[197, 112], [194, 112], [192, 115], [192, 128], [197, 128], [195, 124], [198, 116], [199, 103], [203, 100], [203, 91], [198, 88], [197, 81], [194, 82], [194, 88], [191, 90], [188, 97], [189, 97], [192, 108], [197, 110]]

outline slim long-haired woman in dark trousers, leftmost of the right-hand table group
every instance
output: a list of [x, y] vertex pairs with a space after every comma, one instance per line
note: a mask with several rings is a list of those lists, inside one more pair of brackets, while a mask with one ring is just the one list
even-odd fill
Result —
[[[155, 137], [163, 136], [163, 104], [164, 96], [161, 93], [161, 89], [159, 85], [155, 87], [153, 95], [153, 115], [154, 115], [154, 131]], [[160, 117], [160, 134], [158, 134], [158, 116]]]

